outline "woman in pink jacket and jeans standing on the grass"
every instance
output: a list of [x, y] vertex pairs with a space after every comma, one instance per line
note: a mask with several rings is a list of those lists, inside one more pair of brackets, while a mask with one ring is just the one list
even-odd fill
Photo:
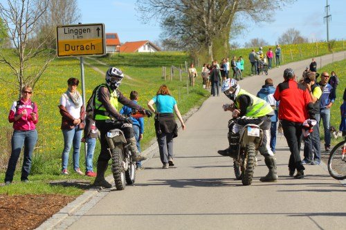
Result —
[[21, 148], [24, 146], [24, 160], [21, 167], [21, 181], [29, 182], [28, 175], [31, 169], [31, 157], [37, 142], [36, 126], [38, 122], [37, 105], [31, 101], [33, 89], [24, 86], [21, 90], [21, 99], [13, 102], [8, 121], [13, 123], [12, 152], [8, 161], [5, 184], [11, 184]]

